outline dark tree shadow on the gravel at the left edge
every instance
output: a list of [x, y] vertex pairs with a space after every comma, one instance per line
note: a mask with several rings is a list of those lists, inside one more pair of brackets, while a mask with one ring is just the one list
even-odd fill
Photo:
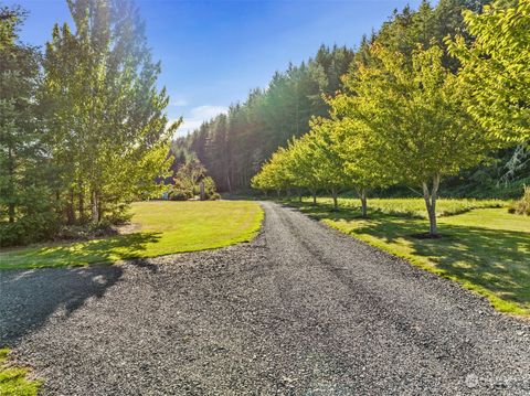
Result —
[[0, 271], [0, 346], [102, 298], [121, 275], [120, 266]]

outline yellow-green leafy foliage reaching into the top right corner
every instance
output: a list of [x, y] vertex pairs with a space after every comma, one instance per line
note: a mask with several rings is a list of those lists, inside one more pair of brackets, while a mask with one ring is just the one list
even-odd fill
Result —
[[[509, 7], [507, 7], [507, 4]], [[530, 0], [497, 1], [481, 13], [464, 13], [470, 44], [451, 49], [462, 63], [466, 105], [492, 138], [530, 140]]]

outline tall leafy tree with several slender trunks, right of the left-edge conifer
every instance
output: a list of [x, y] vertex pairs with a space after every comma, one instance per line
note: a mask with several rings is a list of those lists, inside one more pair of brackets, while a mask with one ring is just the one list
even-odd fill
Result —
[[131, 1], [67, 2], [75, 33], [67, 24], [53, 29], [41, 103], [68, 220], [76, 201], [84, 222], [89, 202], [98, 223], [105, 212], [157, 192], [178, 122], [167, 128], [168, 96], [156, 87], [160, 64], [151, 61]]

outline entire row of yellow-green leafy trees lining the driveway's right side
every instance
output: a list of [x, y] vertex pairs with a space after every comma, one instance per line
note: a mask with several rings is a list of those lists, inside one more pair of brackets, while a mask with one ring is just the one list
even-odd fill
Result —
[[[424, 2], [418, 13], [434, 11]], [[415, 185], [437, 235], [442, 179], [530, 140], [530, 0], [466, 9], [463, 18], [453, 35], [371, 42], [342, 77], [344, 89], [327, 98], [329, 114], [278, 149], [253, 186], [308, 189], [315, 202], [327, 190], [336, 208], [338, 191], [354, 189], [365, 216], [373, 189]]]

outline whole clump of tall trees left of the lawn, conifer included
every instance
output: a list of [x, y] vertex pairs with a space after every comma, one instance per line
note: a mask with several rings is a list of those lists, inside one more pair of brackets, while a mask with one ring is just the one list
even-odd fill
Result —
[[178, 122], [137, 8], [67, 6], [44, 51], [19, 39], [25, 11], [0, 7], [0, 246], [117, 222], [169, 167]]

